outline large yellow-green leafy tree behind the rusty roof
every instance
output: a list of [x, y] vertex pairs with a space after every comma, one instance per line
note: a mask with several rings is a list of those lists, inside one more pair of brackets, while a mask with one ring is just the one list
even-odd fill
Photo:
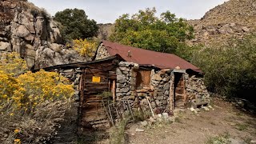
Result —
[[155, 8], [139, 10], [130, 17], [123, 14], [115, 21], [110, 41], [146, 48], [159, 52], [174, 53], [186, 39], [193, 38], [193, 27], [184, 19], [176, 18], [170, 11], [158, 18]]

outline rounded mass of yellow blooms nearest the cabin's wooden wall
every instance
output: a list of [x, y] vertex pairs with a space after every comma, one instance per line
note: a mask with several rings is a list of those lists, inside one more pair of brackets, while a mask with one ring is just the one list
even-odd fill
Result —
[[58, 73], [40, 70], [36, 73], [26, 72], [17, 78], [18, 89], [14, 90], [15, 106], [34, 110], [34, 107], [45, 101], [70, 98], [74, 94], [72, 85]]

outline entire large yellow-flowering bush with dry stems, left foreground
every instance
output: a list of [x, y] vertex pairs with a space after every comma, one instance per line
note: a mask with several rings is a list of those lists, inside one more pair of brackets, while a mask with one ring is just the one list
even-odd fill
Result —
[[55, 72], [26, 72], [18, 54], [0, 54], [0, 143], [43, 143], [56, 134], [74, 88]]

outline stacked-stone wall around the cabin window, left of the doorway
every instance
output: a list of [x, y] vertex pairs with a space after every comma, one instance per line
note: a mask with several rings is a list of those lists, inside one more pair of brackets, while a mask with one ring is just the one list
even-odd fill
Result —
[[136, 76], [139, 66], [132, 62], [120, 62], [117, 68], [117, 101], [129, 100], [131, 106], [140, 103], [141, 106], [149, 108], [166, 109], [169, 107], [170, 94], [170, 72], [171, 70], [151, 70], [150, 86], [144, 86], [137, 90]]

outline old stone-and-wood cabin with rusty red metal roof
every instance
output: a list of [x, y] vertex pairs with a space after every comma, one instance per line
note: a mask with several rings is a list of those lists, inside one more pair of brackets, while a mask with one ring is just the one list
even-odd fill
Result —
[[78, 120], [106, 128], [122, 114], [154, 114], [209, 104], [202, 70], [174, 54], [102, 41], [92, 62], [52, 66], [77, 86]]

